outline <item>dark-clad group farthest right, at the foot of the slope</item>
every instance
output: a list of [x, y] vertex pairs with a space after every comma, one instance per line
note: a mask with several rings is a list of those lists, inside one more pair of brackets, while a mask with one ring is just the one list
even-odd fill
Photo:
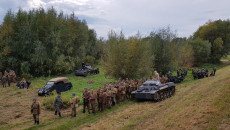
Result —
[[192, 75], [194, 79], [202, 79], [208, 76], [215, 76], [216, 74], [216, 67], [213, 67], [212, 73], [208, 74], [208, 69], [192, 69]]

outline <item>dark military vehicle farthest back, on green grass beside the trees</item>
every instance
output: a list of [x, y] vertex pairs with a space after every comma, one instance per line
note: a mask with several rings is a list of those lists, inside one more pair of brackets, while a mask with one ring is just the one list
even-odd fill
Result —
[[89, 65], [86, 65], [82, 67], [81, 69], [75, 71], [76, 76], [86, 77], [88, 75], [95, 75], [95, 74], [99, 74], [99, 68], [92, 68]]

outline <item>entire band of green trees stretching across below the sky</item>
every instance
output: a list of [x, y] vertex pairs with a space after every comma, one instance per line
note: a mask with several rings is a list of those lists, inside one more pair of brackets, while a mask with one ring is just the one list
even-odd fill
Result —
[[97, 39], [85, 20], [54, 8], [8, 11], [0, 25], [0, 70], [23, 76], [72, 73], [81, 62], [98, 62], [107, 76], [139, 78], [153, 70], [189, 68], [218, 63], [230, 50], [230, 21], [209, 21], [189, 38], [177, 37], [170, 27], [148, 36], [125, 37], [110, 31]]

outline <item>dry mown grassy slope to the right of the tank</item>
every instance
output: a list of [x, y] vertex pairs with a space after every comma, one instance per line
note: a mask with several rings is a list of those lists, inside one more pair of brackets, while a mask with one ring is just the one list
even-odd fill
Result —
[[230, 66], [177, 86], [162, 102], [141, 102], [83, 129], [230, 129]]

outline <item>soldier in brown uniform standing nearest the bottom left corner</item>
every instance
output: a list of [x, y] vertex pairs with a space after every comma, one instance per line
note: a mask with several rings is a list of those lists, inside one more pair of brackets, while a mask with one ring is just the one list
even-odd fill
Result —
[[39, 114], [41, 112], [41, 109], [40, 109], [40, 105], [37, 102], [36, 98], [33, 99], [33, 103], [31, 105], [30, 111], [31, 111], [31, 114], [33, 114], [34, 124], [38, 124], [39, 125]]

